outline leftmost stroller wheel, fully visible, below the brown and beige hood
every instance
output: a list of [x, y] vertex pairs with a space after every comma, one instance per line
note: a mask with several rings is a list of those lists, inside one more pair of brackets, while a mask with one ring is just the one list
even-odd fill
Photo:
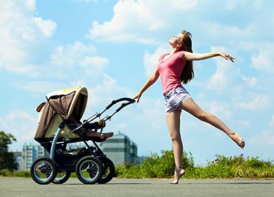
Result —
[[56, 163], [51, 158], [38, 158], [32, 163], [30, 174], [37, 184], [49, 184], [56, 178]]

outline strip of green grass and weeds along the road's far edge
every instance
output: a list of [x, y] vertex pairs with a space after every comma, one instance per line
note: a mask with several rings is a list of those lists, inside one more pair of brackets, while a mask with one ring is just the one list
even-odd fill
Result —
[[[259, 158], [244, 158], [240, 156], [225, 157], [216, 155], [216, 160], [209, 161], [204, 166], [195, 166], [193, 155], [183, 153], [183, 168], [185, 179], [233, 179], [274, 178], [274, 164]], [[0, 170], [0, 175], [6, 177], [30, 177], [29, 171]], [[161, 155], [152, 153], [141, 164], [117, 165], [115, 177], [119, 178], [171, 178], [174, 175], [173, 151], [162, 151]], [[72, 173], [71, 177], [76, 177]]]

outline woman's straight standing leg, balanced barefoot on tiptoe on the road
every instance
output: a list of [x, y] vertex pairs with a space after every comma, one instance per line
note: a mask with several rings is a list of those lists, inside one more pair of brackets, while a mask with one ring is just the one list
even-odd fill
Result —
[[183, 143], [180, 134], [180, 115], [181, 111], [179, 110], [166, 115], [175, 161], [174, 182], [171, 182], [171, 184], [178, 184], [180, 177], [185, 174], [185, 170], [182, 169]]

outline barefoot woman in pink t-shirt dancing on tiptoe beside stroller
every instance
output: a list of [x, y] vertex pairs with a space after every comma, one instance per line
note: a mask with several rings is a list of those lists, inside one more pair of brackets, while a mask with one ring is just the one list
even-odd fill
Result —
[[181, 34], [169, 39], [169, 44], [171, 46], [170, 53], [164, 53], [160, 56], [155, 72], [152, 73], [148, 78], [148, 81], [145, 82], [138, 94], [133, 98], [137, 98], [138, 102], [143, 92], [161, 76], [167, 127], [174, 148], [175, 170], [174, 181], [171, 182], [171, 184], [178, 184], [178, 180], [185, 174], [185, 170], [182, 168], [183, 144], [180, 134], [180, 115], [182, 109], [198, 119], [220, 129], [227, 134], [230, 139], [235, 141], [240, 148], [244, 148], [244, 140], [240, 135], [229, 129], [215, 115], [206, 113], [202, 110], [202, 108], [193, 101], [193, 98], [190, 97], [188, 91], [186, 91], [181, 84], [187, 84], [193, 79], [193, 61], [221, 56], [226, 60], [234, 62], [235, 58], [222, 52], [193, 53], [191, 37], [190, 32], [184, 30]]

